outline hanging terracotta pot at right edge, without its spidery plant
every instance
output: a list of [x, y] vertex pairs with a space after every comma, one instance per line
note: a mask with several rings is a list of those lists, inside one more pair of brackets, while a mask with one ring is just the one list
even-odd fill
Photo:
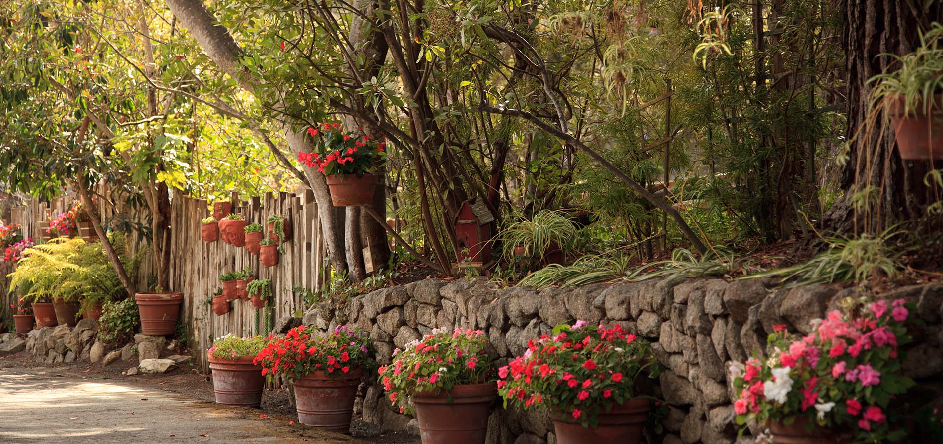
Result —
[[904, 160], [943, 159], [943, 94], [934, 95], [930, 115], [920, 101], [917, 109], [904, 113], [904, 98], [889, 98], [887, 115], [894, 126], [894, 138]]

